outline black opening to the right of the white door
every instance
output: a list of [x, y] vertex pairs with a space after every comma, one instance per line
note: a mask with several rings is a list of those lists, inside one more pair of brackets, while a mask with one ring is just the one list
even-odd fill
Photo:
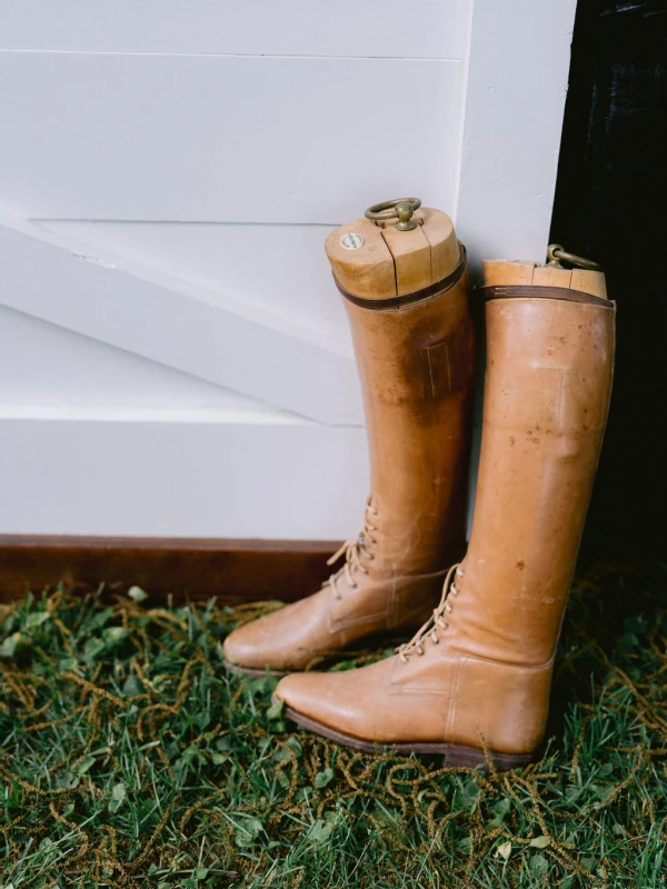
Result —
[[603, 264], [614, 394], [585, 556], [667, 556], [667, 2], [579, 0], [551, 241]]

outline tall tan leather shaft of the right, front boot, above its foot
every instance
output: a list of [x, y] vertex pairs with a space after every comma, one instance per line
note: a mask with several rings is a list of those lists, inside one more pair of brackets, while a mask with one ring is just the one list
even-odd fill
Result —
[[[508, 268], [498, 273], [500, 264]], [[481, 455], [452, 625], [461, 629], [452, 643], [538, 667], [554, 655], [597, 469], [611, 392], [615, 306], [558, 284], [512, 289], [511, 267], [524, 272], [526, 266], [489, 266], [487, 284], [498, 277], [506, 283], [485, 294]], [[556, 274], [560, 284], [571, 284], [569, 271], [535, 272], [532, 281]], [[577, 272], [575, 282], [604, 292], [590, 276], [599, 273]]]

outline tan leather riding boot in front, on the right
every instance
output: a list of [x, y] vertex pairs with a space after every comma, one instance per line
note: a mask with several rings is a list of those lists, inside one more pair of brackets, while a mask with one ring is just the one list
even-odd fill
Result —
[[487, 746], [510, 768], [530, 759], [545, 731], [607, 419], [615, 306], [597, 272], [485, 266], [488, 357], [466, 558], [395, 657], [287, 677], [276, 699], [297, 722], [360, 750], [388, 745], [475, 766]]

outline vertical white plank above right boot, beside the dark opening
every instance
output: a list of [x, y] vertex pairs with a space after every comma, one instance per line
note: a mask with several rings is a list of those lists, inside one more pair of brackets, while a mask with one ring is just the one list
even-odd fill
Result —
[[472, 263], [544, 262], [576, 0], [475, 0], [457, 228]]

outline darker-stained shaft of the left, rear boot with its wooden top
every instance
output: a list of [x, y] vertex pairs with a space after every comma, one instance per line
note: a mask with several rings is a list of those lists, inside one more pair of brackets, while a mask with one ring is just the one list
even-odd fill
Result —
[[464, 547], [474, 369], [466, 256], [445, 213], [416, 217], [411, 231], [357, 219], [327, 239], [364, 396], [370, 567], [386, 577], [441, 570]]

